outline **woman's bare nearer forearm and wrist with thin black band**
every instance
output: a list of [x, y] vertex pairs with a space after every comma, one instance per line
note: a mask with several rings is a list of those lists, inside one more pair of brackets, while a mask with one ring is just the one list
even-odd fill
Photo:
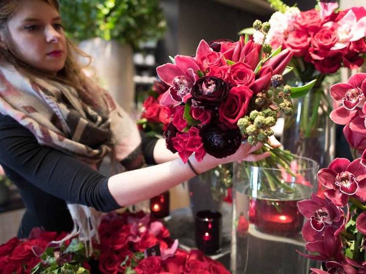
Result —
[[[198, 173], [216, 166], [211, 157], [205, 157], [200, 163], [194, 156], [189, 159]], [[111, 176], [108, 189], [119, 205], [126, 206], [159, 195], [193, 176], [195, 173], [189, 165], [184, 164], [181, 159], [176, 159]]]

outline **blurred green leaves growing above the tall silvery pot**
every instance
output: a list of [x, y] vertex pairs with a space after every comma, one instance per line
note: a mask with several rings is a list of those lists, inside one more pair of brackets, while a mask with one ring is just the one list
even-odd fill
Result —
[[60, 0], [67, 35], [76, 40], [100, 37], [138, 47], [162, 37], [166, 22], [159, 0]]

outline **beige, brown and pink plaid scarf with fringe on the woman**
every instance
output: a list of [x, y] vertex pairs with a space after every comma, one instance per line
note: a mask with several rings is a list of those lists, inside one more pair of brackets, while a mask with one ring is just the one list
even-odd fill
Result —
[[[143, 164], [136, 123], [91, 82], [77, 92], [58, 82], [29, 79], [13, 67], [0, 67], [0, 113], [29, 129], [41, 145], [77, 157], [95, 170], [107, 154], [127, 169]], [[91, 254], [91, 238], [98, 240], [100, 213], [77, 204], [68, 208], [74, 230], [67, 238], [79, 235]]]

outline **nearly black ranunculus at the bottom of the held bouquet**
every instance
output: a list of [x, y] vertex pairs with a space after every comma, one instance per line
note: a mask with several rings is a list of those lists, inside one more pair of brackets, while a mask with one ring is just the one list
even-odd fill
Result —
[[216, 158], [224, 158], [234, 154], [242, 143], [242, 135], [238, 128], [229, 129], [220, 122], [203, 126], [200, 136], [204, 150]]

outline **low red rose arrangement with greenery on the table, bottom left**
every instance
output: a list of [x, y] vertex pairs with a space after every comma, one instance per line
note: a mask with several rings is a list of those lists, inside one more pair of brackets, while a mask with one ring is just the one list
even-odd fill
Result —
[[[94, 243], [91, 258], [76, 238], [53, 243], [66, 233], [36, 228], [27, 240], [12, 238], [0, 245], [0, 274], [77, 273], [89, 274], [89, 259], [97, 261], [103, 274], [229, 274], [224, 266], [198, 250], [178, 249], [178, 241], [160, 221], [142, 212], [106, 215], [99, 227], [100, 243]], [[160, 245], [161, 255], [143, 252]]]

